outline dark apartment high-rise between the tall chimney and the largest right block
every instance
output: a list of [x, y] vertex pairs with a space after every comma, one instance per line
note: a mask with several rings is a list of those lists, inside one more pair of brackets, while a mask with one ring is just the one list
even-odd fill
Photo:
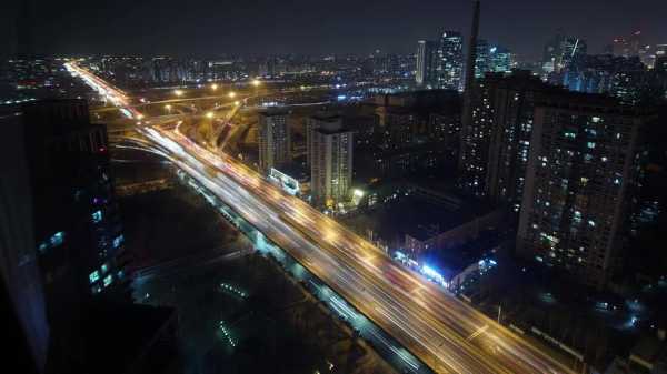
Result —
[[535, 102], [563, 90], [529, 71], [488, 73], [476, 84], [472, 120], [461, 129], [460, 185], [518, 211]]

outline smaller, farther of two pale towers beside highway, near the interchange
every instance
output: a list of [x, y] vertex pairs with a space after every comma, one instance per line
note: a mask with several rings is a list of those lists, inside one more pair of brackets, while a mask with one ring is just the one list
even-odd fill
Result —
[[259, 113], [259, 169], [268, 173], [271, 168], [291, 161], [291, 133], [287, 115], [282, 112]]

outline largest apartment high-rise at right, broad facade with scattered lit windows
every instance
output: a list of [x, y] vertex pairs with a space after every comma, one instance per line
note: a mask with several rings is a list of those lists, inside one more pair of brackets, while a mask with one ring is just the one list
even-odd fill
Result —
[[518, 252], [601, 287], [618, 262], [647, 118], [569, 93], [536, 108]]

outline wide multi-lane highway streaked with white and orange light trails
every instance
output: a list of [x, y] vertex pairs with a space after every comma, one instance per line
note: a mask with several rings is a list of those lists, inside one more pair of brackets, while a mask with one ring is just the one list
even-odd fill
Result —
[[[100, 93], [142, 119], [129, 98], [69, 64]], [[282, 193], [238, 160], [168, 130], [139, 131], [180, 169], [348, 300], [438, 373], [573, 373], [540, 347], [497, 324], [303, 201]]]

